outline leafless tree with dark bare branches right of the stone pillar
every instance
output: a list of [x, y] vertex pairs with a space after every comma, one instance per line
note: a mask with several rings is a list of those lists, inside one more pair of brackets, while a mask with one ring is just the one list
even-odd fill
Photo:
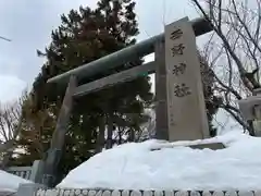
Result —
[[203, 56], [213, 71], [215, 94], [223, 97], [220, 108], [252, 134], [252, 127], [243, 119], [237, 101], [261, 87], [261, 0], [256, 0], [256, 4], [247, 0], [191, 2], [214, 29], [204, 46]]

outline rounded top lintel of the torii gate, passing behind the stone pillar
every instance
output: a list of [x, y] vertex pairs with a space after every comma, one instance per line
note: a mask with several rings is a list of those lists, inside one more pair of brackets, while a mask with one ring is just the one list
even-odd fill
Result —
[[[190, 23], [196, 36], [200, 36], [212, 30], [211, 24], [202, 17], [195, 19], [190, 21]], [[113, 52], [90, 63], [78, 66], [66, 73], [57, 75], [48, 79], [47, 83], [66, 85], [71, 75], [75, 75], [77, 79], [83, 79], [96, 75], [97, 73], [100, 73], [104, 70], [119, 68], [123, 63], [152, 53], [154, 51], [154, 44], [160, 40], [164, 40], [164, 33]]]

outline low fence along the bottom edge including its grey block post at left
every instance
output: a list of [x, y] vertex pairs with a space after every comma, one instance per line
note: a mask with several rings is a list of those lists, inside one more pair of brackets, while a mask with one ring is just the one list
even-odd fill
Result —
[[[13, 194], [12, 194], [13, 195]], [[261, 196], [261, 189], [229, 191], [140, 191], [140, 189], [48, 189], [39, 184], [23, 184], [16, 196]], [[1, 196], [1, 193], [0, 193]]]

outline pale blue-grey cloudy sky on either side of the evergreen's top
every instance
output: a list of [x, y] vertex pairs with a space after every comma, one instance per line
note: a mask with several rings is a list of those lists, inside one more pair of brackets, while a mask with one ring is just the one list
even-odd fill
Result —
[[[50, 42], [50, 33], [60, 25], [60, 15], [79, 5], [94, 8], [96, 3], [97, 0], [0, 1], [0, 36], [12, 39], [11, 42], [0, 40], [1, 102], [16, 99], [24, 88], [30, 87], [45, 61], [37, 57], [36, 50]], [[162, 33], [164, 23], [199, 16], [189, 0], [139, 0], [136, 13], [138, 40]], [[208, 36], [201, 36], [197, 44], [202, 46], [207, 39]]]

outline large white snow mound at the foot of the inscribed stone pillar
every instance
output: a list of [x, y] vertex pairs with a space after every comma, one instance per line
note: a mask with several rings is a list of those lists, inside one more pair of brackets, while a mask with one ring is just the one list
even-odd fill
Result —
[[[222, 142], [220, 150], [191, 144]], [[184, 146], [185, 145], [185, 146]], [[160, 150], [151, 150], [159, 149]], [[104, 150], [72, 170], [60, 188], [259, 189], [261, 138], [228, 133], [206, 140], [147, 140]]]

